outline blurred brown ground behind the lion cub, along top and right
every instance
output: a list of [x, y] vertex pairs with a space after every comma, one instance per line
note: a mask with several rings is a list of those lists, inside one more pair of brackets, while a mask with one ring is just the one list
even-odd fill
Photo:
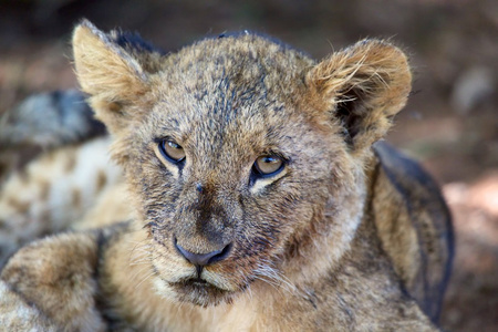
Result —
[[0, 0], [0, 114], [30, 94], [77, 86], [69, 41], [81, 18], [166, 51], [246, 29], [315, 59], [367, 37], [403, 48], [414, 89], [387, 139], [429, 169], [454, 215], [442, 326], [498, 331], [498, 1]]

